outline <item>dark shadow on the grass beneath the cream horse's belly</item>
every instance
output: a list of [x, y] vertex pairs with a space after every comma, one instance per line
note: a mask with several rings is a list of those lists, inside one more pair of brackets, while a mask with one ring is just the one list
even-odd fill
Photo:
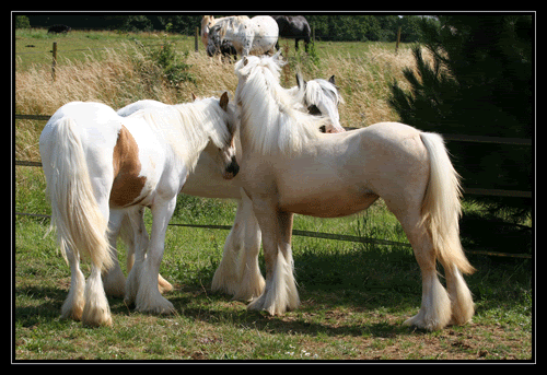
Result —
[[202, 274], [199, 286], [185, 286], [167, 297], [181, 315], [209, 324], [311, 336], [415, 335], [415, 329], [401, 325], [418, 313], [421, 301], [420, 271], [408, 248], [304, 250], [294, 256], [294, 263], [302, 304], [283, 316], [247, 310], [246, 303], [211, 293], [212, 273]]

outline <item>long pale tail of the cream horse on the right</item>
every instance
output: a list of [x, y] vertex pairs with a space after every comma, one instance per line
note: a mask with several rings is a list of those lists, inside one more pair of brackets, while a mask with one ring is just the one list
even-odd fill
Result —
[[475, 268], [465, 257], [459, 242], [462, 214], [459, 175], [452, 166], [441, 136], [421, 132], [430, 160], [429, 184], [422, 202], [423, 222], [431, 234], [437, 257], [443, 267], [456, 267], [462, 273]]

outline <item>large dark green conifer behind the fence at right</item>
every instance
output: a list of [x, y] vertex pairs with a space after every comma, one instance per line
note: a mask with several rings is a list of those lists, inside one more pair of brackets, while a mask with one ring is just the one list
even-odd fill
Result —
[[[532, 137], [532, 16], [451, 15], [420, 27], [432, 63], [416, 46], [416, 71], [404, 70], [410, 91], [394, 82], [389, 104], [403, 122], [449, 134]], [[532, 190], [532, 148], [451, 142], [449, 149], [465, 187]], [[480, 201], [513, 221], [532, 210], [529, 199]]]

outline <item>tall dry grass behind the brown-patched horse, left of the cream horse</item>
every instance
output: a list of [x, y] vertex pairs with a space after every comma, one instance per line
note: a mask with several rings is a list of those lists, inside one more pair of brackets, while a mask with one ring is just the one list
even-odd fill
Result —
[[15, 73], [15, 109], [21, 114], [53, 115], [73, 101], [101, 102], [114, 108], [143, 98], [175, 104], [189, 101], [191, 92], [211, 96], [237, 85], [231, 66], [199, 54], [189, 55], [187, 63], [191, 65], [196, 84], [183, 82], [177, 86], [162, 80], [149, 57], [135, 46], [90, 52], [83, 61], [61, 59], [55, 82], [49, 67], [33, 66]]

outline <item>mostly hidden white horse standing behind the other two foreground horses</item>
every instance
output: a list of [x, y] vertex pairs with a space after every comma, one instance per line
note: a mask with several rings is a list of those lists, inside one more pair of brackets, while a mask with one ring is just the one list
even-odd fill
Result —
[[[299, 85], [287, 90], [291, 96], [294, 108], [299, 110], [311, 110], [328, 117], [328, 132], [344, 131], [339, 124], [338, 104], [344, 103], [342, 97], [335, 86], [334, 75], [328, 81], [316, 79], [304, 82], [298, 74]], [[117, 113], [120, 116], [129, 116], [143, 108], [163, 108], [166, 104], [156, 101], [138, 101], [129, 104]], [[319, 109], [321, 108], [321, 109]], [[319, 113], [316, 110], [319, 109]], [[241, 159], [241, 144], [235, 137], [236, 159]], [[241, 194], [238, 178], [226, 180], [217, 173], [214, 160], [209, 154], [202, 153], [194, 172], [188, 175], [186, 184], [181, 192], [206, 198], [231, 198], [237, 199], [237, 212], [235, 221], [224, 244], [224, 253], [212, 281], [213, 291], [222, 291], [233, 294], [234, 298], [248, 301], [263, 293], [265, 281], [258, 267], [258, 253], [260, 250], [260, 228], [253, 213], [253, 207], [245, 194]], [[146, 231], [146, 228], [144, 228]], [[127, 244], [128, 258], [127, 269], [133, 263], [135, 242], [131, 226], [128, 220], [123, 224], [120, 233]], [[146, 232], [144, 232], [146, 236]], [[160, 290], [170, 291], [171, 284], [160, 276]], [[125, 278], [119, 267], [117, 257], [114, 257], [114, 267], [104, 274], [105, 291], [109, 295], [123, 296]]]

